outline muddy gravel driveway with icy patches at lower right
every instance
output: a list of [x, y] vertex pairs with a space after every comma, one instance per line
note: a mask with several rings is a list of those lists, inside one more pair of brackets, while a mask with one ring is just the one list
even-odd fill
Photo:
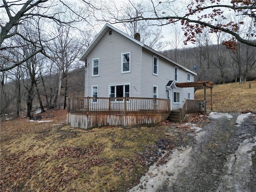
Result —
[[129, 192], [255, 192], [256, 116], [214, 112], [209, 119]]

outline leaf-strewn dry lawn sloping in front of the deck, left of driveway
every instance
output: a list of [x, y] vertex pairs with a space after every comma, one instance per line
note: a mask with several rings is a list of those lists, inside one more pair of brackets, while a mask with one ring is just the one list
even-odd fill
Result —
[[166, 126], [71, 129], [53, 125], [66, 118], [58, 113], [44, 124], [1, 123], [1, 191], [126, 191], [156, 158], [155, 141], [171, 142]]

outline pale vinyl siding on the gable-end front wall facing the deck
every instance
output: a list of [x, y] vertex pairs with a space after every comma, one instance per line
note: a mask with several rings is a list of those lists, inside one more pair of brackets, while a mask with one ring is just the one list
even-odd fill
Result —
[[[130, 73], [121, 73], [121, 54], [128, 51], [132, 61], [130, 63], [132, 70]], [[107, 31], [86, 58], [87, 61], [92, 61], [92, 58], [100, 58], [100, 76], [96, 78], [91, 76], [92, 64], [90, 63], [85, 74], [85, 97], [91, 96], [92, 85], [99, 85], [100, 97], [109, 97], [109, 85], [126, 84], [127, 82], [130, 83], [130, 97], [140, 97], [141, 55], [142, 47], [140, 45], [114, 30], [112, 30], [112, 35], [109, 35]], [[90, 73], [88, 74], [88, 72]]]

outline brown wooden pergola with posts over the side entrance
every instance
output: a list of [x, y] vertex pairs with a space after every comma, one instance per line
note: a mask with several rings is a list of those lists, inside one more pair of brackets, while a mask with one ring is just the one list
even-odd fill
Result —
[[206, 113], [206, 87], [211, 89], [211, 110], [212, 110], [212, 88], [214, 83], [211, 81], [195, 81], [186, 83], [176, 83], [177, 87], [204, 87], [204, 112]]

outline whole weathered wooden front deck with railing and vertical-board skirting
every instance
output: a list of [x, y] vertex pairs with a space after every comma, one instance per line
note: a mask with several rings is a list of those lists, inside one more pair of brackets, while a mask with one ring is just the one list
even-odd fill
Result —
[[154, 125], [166, 120], [170, 100], [159, 98], [70, 98], [67, 124], [78, 128]]

